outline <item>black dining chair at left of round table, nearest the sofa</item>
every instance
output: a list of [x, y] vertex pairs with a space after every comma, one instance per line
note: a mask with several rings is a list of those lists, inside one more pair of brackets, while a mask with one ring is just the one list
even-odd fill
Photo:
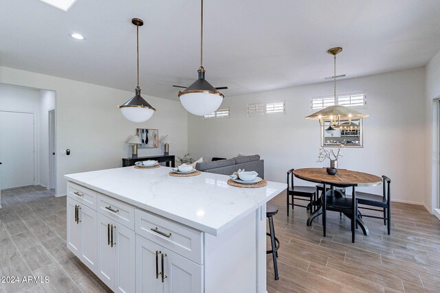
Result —
[[[305, 207], [309, 209], [310, 212], [313, 212], [316, 201], [316, 187], [294, 185], [294, 170], [295, 169], [289, 169], [289, 171], [287, 171], [287, 217], [289, 216], [289, 205], [292, 206], [292, 210], [294, 206], [297, 206]], [[309, 204], [307, 204], [307, 206], [296, 204], [294, 200], [307, 200]]]

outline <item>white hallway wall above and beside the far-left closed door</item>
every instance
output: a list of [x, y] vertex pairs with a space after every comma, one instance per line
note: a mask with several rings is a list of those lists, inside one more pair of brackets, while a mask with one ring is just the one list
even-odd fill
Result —
[[[34, 175], [35, 183], [39, 184], [39, 117], [40, 117], [40, 91], [22, 86], [11, 86], [9, 84], [0, 83], [0, 110], [10, 110], [18, 112], [34, 113]], [[1, 139], [1, 138], [0, 138]], [[6, 166], [2, 166], [5, 168]], [[3, 169], [3, 172], [6, 170]]]

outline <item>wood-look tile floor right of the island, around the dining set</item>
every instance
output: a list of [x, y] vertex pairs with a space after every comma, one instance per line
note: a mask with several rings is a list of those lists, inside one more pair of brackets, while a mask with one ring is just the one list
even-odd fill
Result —
[[267, 255], [267, 292], [440, 292], [440, 221], [422, 206], [393, 202], [391, 235], [383, 220], [364, 218], [370, 235], [359, 229], [353, 244], [350, 220], [339, 213], [329, 212], [322, 237], [321, 216], [307, 227], [305, 208], [287, 217], [284, 193], [271, 202], [279, 208], [280, 279]]

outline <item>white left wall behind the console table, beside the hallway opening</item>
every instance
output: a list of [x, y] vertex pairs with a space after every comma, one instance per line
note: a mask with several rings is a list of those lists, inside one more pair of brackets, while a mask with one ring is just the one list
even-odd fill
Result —
[[[177, 101], [144, 95], [157, 112], [150, 120], [135, 124], [124, 119], [116, 107], [133, 97], [134, 93], [129, 91], [9, 67], [0, 67], [0, 82], [56, 91], [58, 195], [66, 193], [64, 174], [121, 166], [121, 158], [131, 148], [125, 142], [135, 128], [157, 128], [159, 136], [168, 134], [173, 140], [172, 154], [187, 152], [188, 119], [186, 110]], [[61, 156], [61, 150], [67, 148], [72, 154]], [[161, 152], [151, 149], [145, 154]]]

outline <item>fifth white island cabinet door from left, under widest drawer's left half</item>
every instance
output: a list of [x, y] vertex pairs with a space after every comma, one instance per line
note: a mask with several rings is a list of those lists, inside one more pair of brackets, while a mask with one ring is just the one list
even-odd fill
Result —
[[136, 292], [163, 293], [162, 246], [136, 235]]

